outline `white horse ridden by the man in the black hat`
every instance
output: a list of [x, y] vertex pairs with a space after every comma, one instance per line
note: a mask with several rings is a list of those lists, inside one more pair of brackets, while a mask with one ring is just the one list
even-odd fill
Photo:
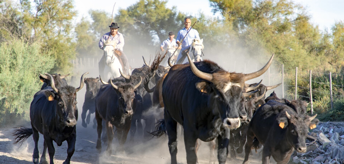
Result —
[[115, 47], [117, 43], [106, 40], [103, 42], [104, 57], [106, 66], [104, 68], [104, 80], [108, 81], [111, 77], [118, 78], [121, 76], [120, 70], [123, 72], [122, 65], [115, 55]]

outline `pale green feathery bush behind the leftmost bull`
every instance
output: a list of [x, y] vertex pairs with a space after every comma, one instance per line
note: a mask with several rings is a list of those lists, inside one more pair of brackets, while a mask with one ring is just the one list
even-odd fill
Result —
[[55, 59], [41, 52], [41, 44], [21, 40], [0, 44], [0, 126], [28, 119], [33, 95], [42, 83], [39, 74], [54, 67]]

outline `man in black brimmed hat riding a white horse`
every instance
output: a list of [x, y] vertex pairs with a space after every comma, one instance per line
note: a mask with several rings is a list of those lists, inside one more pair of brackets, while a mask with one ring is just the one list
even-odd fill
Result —
[[[120, 55], [120, 58], [122, 59], [123, 62], [123, 73], [128, 74], [129, 72], [129, 62], [128, 62], [128, 58], [126, 58], [125, 53], [123, 52], [123, 46], [124, 46], [124, 38], [123, 38], [123, 34], [118, 32], [118, 26], [117, 23], [111, 23], [110, 27], [110, 32], [104, 34], [102, 36], [102, 38], [100, 38], [99, 40], [99, 48], [103, 50], [103, 41], [106, 41], [108, 39], [110, 39], [110, 41], [115, 41], [117, 43], [117, 46], [114, 47], [114, 49], [116, 51], [120, 51], [122, 55]], [[103, 57], [100, 59], [99, 63], [98, 63], [98, 67], [99, 67], [99, 73], [102, 75], [103, 74], [103, 70], [105, 68], [105, 57], [103, 55]], [[104, 77], [104, 76], [102, 76]]]

